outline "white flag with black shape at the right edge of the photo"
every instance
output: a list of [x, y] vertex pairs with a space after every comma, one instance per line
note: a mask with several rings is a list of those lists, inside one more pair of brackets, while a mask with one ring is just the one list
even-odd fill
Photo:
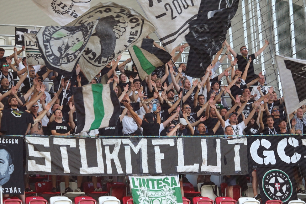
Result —
[[306, 103], [306, 60], [275, 56], [287, 113]]

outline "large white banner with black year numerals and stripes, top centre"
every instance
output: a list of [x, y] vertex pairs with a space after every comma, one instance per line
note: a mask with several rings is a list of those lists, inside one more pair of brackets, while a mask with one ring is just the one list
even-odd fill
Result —
[[189, 33], [189, 22], [197, 18], [201, 0], [137, 0], [169, 53]]

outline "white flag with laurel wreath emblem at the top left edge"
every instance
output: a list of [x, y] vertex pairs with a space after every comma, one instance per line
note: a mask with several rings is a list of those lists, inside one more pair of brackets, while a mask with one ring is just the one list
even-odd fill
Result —
[[32, 0], [55, 22], [64, 26], [90, 8], [91, 0]]

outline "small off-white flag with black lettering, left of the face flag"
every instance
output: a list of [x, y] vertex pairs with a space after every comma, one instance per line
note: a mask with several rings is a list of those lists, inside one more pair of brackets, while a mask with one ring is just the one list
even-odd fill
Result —
[[45, 65], [45, 61], [41, 56], [36, 34], [24, 34], [25, 56], [28, 64]]

